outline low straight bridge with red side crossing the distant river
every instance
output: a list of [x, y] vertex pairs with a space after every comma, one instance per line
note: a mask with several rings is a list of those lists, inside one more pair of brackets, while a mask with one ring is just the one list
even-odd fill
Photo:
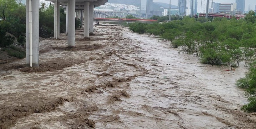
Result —
[[134, 23], [134, 22], [141, 22], [141, 23], [155, 23], [157, 20], [150, 20], [150, 19], [121, 19], [121, 18], [95, 18], [94, 21], [99, 23], [101, 22], [115, 22], [115, 23], [122, 23], [122, 22], [127, 22], [127, 23]]

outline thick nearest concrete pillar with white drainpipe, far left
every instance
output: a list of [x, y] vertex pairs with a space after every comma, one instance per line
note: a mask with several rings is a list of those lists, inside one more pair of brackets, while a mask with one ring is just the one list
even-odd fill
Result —
[[[32, 67], [39, 66], [39, 0], [32, 0]], [[26, 0], [26, 66], [30, 64], [29, 55], [29, 0]]]

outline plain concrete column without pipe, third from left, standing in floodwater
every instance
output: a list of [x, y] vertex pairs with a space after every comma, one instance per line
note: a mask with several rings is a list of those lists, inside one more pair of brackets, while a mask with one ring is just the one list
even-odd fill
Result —
[[75, 17], [76, 17], [76, 1], [68, 0], [68, 34], [67, 45], [75, 46]]

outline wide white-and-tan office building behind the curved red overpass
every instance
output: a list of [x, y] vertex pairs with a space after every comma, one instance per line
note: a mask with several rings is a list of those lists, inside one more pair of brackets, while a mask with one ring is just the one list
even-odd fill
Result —
[[237, 3], [220, 3], [219, 12], [220, 13], [230, 13], [237, 10]]

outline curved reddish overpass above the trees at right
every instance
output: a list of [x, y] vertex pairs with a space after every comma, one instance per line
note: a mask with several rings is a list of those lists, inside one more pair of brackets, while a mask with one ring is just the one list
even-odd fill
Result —
[[[194, 18], [205, 17], [205, 16], [206, 16], [206, 13], [199, 13], [198, 15], [197, 14], [193, 15]], [[243, 15], [243, 14], [230, 15], [230, 14], [226, 14], [226, 13], [209, 13], [208, 17], [213, 17], [213, 18], [225, 17], [228, 19], [235, 17], [236, 19], [244, 19], [245, 15]]]

